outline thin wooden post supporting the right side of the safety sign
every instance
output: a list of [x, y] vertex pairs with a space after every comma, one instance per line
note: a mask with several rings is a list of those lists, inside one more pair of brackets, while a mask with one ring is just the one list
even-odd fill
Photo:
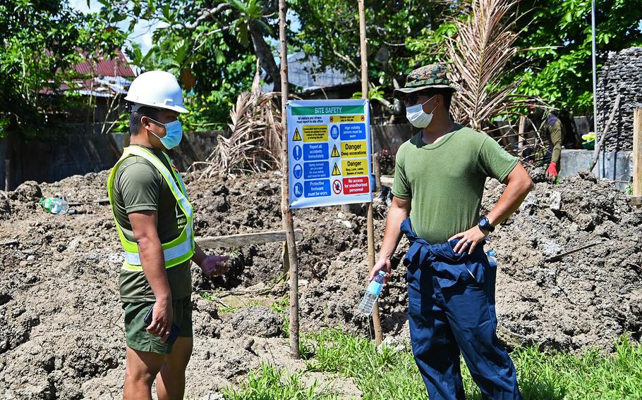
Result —
[[[368, 44], [365, 37], [365, 8], [363, 0], [359, 0], [359, 36], [361, 38], [361, 97], [368, 99]], [[373, 148], [370, 137], [370, 149]], [[370, 155], [372, 156], [372, 155]], [[373, 220], [373, 202], [368, 203], [368, 272], [375, 266], [375, 226]], [[375, 327], [375, 343], [383, 340], [381, 332], [381, 319], [379, 316], [379, 301], [373, 306], [373, 325]]]

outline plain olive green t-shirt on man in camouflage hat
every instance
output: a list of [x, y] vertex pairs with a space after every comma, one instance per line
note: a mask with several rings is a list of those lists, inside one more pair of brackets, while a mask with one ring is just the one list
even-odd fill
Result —
[[413, 230], [432, 244], [475, 226], [486, 177], [503, 181], [517, 164], [492, 137], [455, 125], [432, 144], [420, 131], [399, 147], [392, 194], [411, 199]]

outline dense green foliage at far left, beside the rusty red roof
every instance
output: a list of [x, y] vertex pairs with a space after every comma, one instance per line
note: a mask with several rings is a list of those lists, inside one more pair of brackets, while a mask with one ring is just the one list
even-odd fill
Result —
[[71, 67], [123, 44], [123, 32], [107, 29], [114, 22], [108, 17], [84, 15], [68, 1], [0, 3], [0, 135], [55, 130], [60, 111], [80, 99], [51, 95], [81, 77]]

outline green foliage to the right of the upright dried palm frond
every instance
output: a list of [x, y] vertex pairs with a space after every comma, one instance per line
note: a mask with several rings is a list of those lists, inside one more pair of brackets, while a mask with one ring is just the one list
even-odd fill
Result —
[[[592, 113], [590, 1], [531, 0], [519, 21], [522, 65], [509, 80], [523, 79], [519, 92], [540, 96], [558, 108]], [[595, 42], [598, 68], [608, 51], [642, 45], [639, 1], [596, 0]]]

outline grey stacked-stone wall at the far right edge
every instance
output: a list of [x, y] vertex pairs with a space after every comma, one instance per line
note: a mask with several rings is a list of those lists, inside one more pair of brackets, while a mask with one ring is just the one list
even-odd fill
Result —
[[642, 47], [609, 55], [598, 76], [598, 135], [604, 131], [617, 94], [619, 108], [607, 132], [606, 151], [633, 149], [633, 111], [642, 107]]

